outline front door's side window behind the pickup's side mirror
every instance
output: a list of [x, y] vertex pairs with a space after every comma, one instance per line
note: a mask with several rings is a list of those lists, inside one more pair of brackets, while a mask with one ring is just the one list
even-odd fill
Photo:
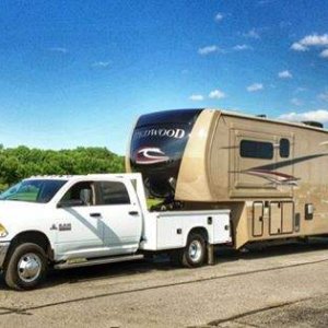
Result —
[[60, 203], [65, 206], [93, 206], [95, 203], [93, 183], [77, 183], [63, 195]]

